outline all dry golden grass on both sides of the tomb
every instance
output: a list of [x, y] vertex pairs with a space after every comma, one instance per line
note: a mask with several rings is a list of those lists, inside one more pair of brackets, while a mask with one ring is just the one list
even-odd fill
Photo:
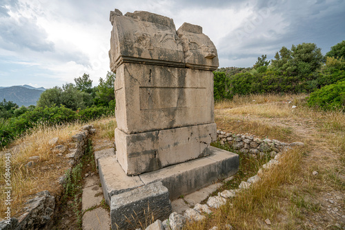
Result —
[[[234, 229], [338, 229], [344, 225], [345, 115], [308, 108], [306, 96], [235, 96], [232, 101], [215, 103], [217, 129], [286, 143], [299, 141], [305, 146], [287, 151], [279, 167], [262, 174], [257, 184], [229, 199], [203, 222], [188, 224], [186, 229], [208, 230], [213, 226], [226, 229], [226, 224]], [[93, 124], [99, 131], [96, 139], [114, 138], [114, 118], [100, 119]], [[43, 189], [53, 193], [57, 190], [56, 179], [63, 174], [65, 166], [48, 141], [59, 137], [57, 145], [64, 145], [82, 125], [42, 126], [9, 147], [14, 210], [30, 194]], [[32, 168], [25, 167], [30, 156], [40, 157]], [[234, 189], [239, 182], [255, 175], [265, 160], [268, 159], [240, 155], [239, 173], [223, 189]], [[0, 171], [3, 174], [3, 161]], [[4, 185], [3, 178], [0, 183]], [[3, 199], [3, 194], [0, 196]], [[0, 209], [2, 216], [3, 203]], [[270, 225], [266, 224], [267, 219]]]

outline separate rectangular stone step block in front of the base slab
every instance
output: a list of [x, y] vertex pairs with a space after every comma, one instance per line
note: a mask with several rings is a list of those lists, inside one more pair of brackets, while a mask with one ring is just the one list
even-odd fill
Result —
[[[112, 196], [110, 218], [112, 229], [133, 229], [146, 218], [165, 220], [171, 213], [169, 192], [161, 182], [139, 187], [123, 194]], [[128, 222], [128, 220], [130, 222]]]

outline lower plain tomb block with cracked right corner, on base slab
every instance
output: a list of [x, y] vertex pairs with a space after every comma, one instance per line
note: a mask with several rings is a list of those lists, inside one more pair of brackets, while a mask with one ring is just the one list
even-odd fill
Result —
[[115, 129], [117, 159], [126, 174], [138, 175], [208, 156], [216, 129], [215, 123], [139, 134]]

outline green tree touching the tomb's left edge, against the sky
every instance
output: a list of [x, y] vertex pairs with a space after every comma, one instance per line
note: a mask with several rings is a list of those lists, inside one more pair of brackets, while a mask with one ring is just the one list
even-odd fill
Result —
[[109, 106], [109, 103], [115, 100], [115, 78], [116, 76], [113, 72], [108, 72], [105, 80], [99, 78], [97, 105]]

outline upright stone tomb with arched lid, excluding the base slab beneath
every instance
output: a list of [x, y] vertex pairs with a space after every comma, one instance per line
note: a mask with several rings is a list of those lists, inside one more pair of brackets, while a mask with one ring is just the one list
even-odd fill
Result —
[[150, 12], [110, 12], [116, 72], [117, 160], [128, 175], [210, 154], [216, 139], [213, 70], [219, 63], [199, 25]]

